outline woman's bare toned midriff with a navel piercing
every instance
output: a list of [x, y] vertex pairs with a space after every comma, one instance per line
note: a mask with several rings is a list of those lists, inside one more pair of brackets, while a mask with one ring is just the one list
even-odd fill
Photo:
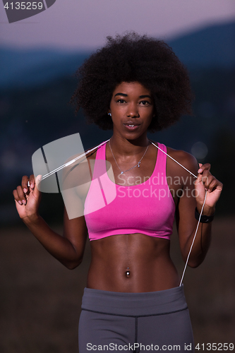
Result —
[[118, 234], [90, 241], [87, 287], [111, 292], [155, 292], [179, 286], [168, 239]]

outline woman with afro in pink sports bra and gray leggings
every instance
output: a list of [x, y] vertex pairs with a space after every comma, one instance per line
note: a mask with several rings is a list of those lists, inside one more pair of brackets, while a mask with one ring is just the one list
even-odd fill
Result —
[[113, 130], [112, 138], [87, 158], [90, 164], [95, 161], [95, 169], [98, 160], [110, 162], [114, 180], [105, 170], [104, 184], [116, 184], [116, 198], [91, 212], [96, 195], [92, 180], [80, 194], [78, 207], [84, 207], [84, 216], [69, 220], [65, 210], [61, 237], [38, 215], [40, 192], [34, 176], [25, 176], [13, 191], [18, 213], [67, 268], [81, 263], [89, 234], [92, 261], [80, 316], [80, 353], [193, 350], [191, 321], [183, 285], [169, 257], [169, 239], [175, 216], [186, 261], [195, 217], [208, 191], [188, 265], [203, 262], [222, 183], [210, 174], [210, 164], [198, 169], [193, 156], [147, 138], [147, 131], [166, 128], [191, 112], [186, 69], [164, 42], [130, 33], [108, 37], [106, 47], [85, 61], [78, 77], [72, 97], [76, 111], [82, 107], [90, 121]]

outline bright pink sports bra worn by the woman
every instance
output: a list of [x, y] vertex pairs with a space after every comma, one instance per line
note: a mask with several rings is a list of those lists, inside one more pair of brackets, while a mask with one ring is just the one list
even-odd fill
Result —
[[[102, 178], [95, 177], [97, 160], [106, 160], [106, 145], [97, 150], [93, 178], [85, 199], [84, 215], [90, 240], [133, 233], [170, 239], [175, 204], [167, 184], [167, 155], [157, 150], [150, 179], [138, 185], [121, 186], [109, 179], [105, 163]], [[167, 152], [165, 145], [158, 143], [158, 146]], [[110, 202], [109, 191], [115, 186], [116, 197]]]

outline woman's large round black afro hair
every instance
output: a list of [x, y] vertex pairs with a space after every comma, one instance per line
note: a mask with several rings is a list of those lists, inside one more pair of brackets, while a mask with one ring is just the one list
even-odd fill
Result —
[[71, 104], [103, 130], [112, 129], [108, 116], [112, 93], [121, 82], [139, 82], [150, 90], [155, 117], [148, 131], [167, 128], [182, 114], [191, 114], [193, 93], [188, 71], [164, 41], [135, 32], [107, 37], [107, 44], [85, 60], [75, 75], [78, 87]]

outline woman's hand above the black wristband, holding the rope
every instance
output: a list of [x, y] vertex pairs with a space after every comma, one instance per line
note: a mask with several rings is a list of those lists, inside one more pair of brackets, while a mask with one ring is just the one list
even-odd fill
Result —
[[[207, 198], [205, 201], [205, 208], [215, 209], [215, 204], [219, 200], [219, 196], [223, 189], [223, 184], [212, 176], [210, 173], [210, 164], [199, 163], [198, 178], [195, 180], [196, 201], [203, 206], [205, 199], [205, 191], [207, 191]], [[199, 212], [198, 208], [198, 212]]]

